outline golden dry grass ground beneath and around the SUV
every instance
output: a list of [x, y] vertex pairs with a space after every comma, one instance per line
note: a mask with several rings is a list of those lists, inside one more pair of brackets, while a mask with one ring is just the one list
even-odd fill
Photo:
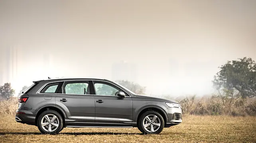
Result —
[[64, 128], [42, 135], [36, 126], [20, 124], [14, 116], [0, 117], [0, 142], [47, 143], [256, 143], [256, 117], [183, 116], [183, 123], [159, 135], [142, 135], [137, 128]]

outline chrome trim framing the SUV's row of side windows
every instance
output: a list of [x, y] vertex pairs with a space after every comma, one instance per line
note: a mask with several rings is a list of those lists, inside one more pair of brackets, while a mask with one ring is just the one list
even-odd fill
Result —
[[[61, 81], [55, 81], [55, 82], [68, 82], [68, 81], [101, 81], [101, 82], [108, 82], [108, 81], [105, 81], [105, 80], [61, 80]], [[47, 86], [47, 84], [52, 84], [52, 83], [55, 83], [55, 82], [47, 82], [46, 84], [44, 84], [37, 92], [36, 94], [54, 94], [54, 95], [92, 95], [92, 94], [63, 94], [63, 93], [41, 93], [41, 90], [43, 88], [45, 88], [45, 86]], [[108, 82], [110, 84], [112, 84], [111, 82]], [[115, 84], [112, 84], [114, 86], [117, 86]], [[118, 88], [122, 89], [121, 87], [117, 86]], [[122, 89], [123, 90], [123, 89]], [[131, 97], [131, 95], [126, 92], [125, 90], [123, 90], [125, 93], [127, 93], [129, 96], [126, 96], [126, 97]], [[118, 97], [118, 96], [115, 96], [115, 95], [93, 95], [93, 96], [110, 96], [110, 97]]]

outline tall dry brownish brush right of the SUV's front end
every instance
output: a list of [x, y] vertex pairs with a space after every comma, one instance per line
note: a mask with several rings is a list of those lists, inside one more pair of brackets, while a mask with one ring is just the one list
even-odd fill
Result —
[[256, 116], [256, 98], [242, 98], [240, 93], [223, 90], [210, 97], [186, 97], [177, 100], [183, 114]]

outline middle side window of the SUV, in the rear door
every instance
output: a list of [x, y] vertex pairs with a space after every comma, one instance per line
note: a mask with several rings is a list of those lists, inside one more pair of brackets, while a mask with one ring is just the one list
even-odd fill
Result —
[[64, 94], [90, 94], [89, 84], [83, 82], [67, 82], [63, 85]]

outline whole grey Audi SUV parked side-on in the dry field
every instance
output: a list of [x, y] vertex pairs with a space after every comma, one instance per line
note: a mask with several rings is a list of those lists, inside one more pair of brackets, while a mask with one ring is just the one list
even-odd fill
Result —
[[176, 101], [136, 95], [105, 79], [35, 81], [18, 102], [15, 120], [49, 134], [57, 134], [65, 127], [138, 127], [144, 134], [160, 133], [164, 127], [182, 122]]

